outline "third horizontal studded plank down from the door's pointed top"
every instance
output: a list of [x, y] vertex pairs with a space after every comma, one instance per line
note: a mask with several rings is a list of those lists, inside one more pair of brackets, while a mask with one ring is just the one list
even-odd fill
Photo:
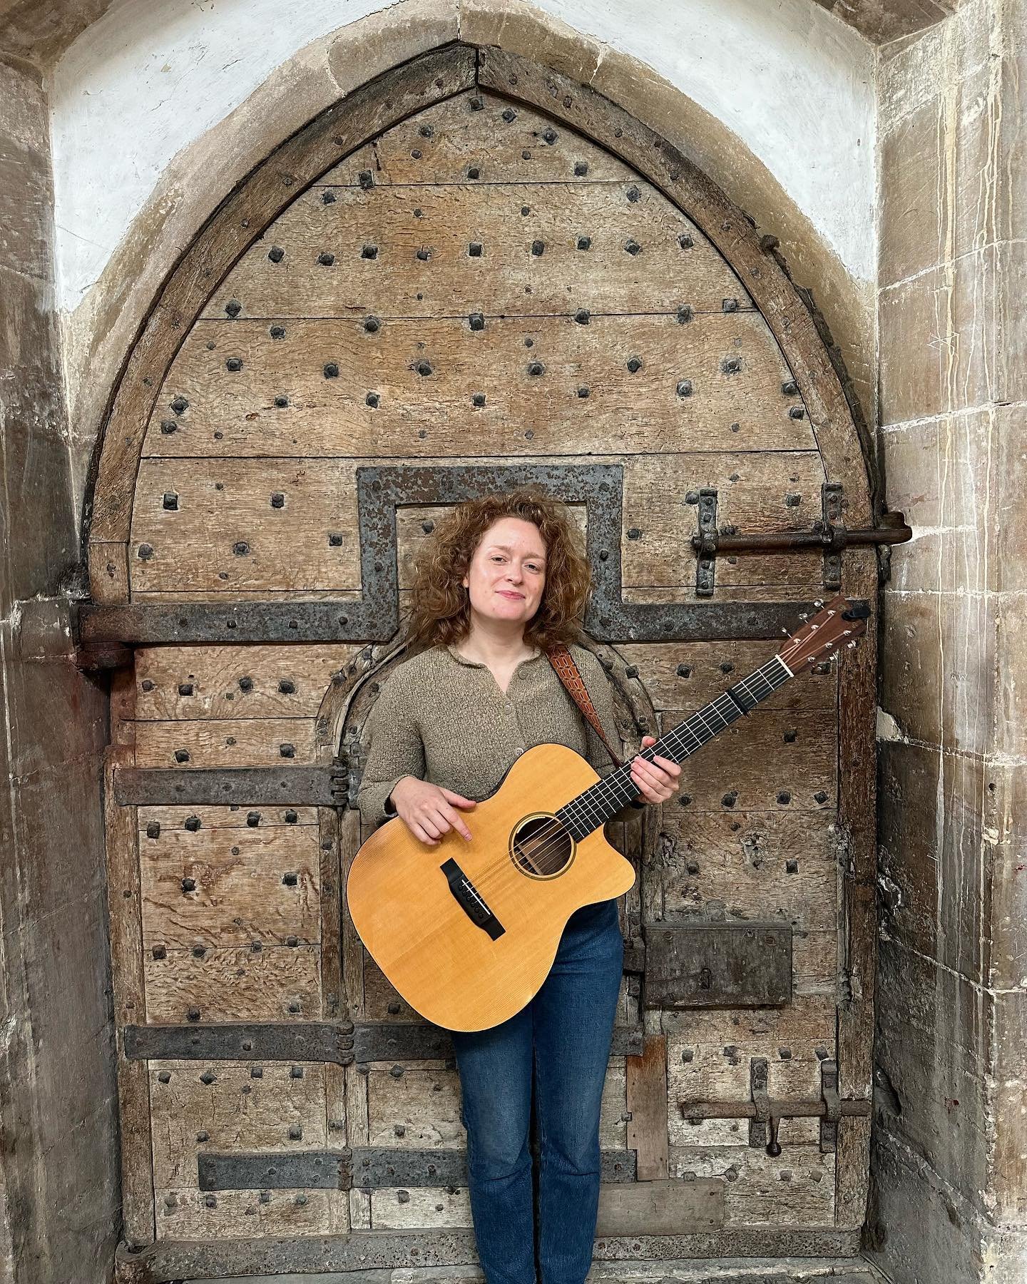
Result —
[[[168, 371], [142, 453], [435, 456], [460, 453], [470, 435], [476, 455], [635, 455], [656, 440], [665, 451], [815, 448], [809, 420], [790, 413], [802, 406], [782, 392], [791, 374], [759, 313], [583, 324], [480, 307], [474, 321], [204, 321]], [[175, 416], [177, 398], [187, 408]]]

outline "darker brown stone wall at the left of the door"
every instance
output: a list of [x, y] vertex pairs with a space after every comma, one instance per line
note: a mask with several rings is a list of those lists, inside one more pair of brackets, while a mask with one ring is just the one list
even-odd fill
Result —
[[101, 755], [54, 315], [46, 99], [0, 62], [0, 1279], [100, 1284], [119, 1229]]

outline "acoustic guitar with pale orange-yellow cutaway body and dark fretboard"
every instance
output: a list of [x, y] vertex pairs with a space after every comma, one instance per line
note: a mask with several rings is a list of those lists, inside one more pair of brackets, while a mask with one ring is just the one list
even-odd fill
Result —
[[[683, 761], [800, 672], [855, 646], [869, 614], [865, 602], [832, 598], [778, 655], [641, 755]], [[353, 924], [427, 1021], [447, 1030], [499, 1025], [538, 993], [574, 910], [634, 885], [603, 824], [638, 796], [630, 763], [600, 778], [573, 749], [537, 745], [465, 814], [470, 842], [451, 829], [430, 846], [398, 817], [379, 826], [349, 867]]]

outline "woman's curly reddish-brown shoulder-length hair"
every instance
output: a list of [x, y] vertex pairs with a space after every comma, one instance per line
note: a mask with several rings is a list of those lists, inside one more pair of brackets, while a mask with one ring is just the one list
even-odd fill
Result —
[[470, 633], [471, 600], [461, 584], [483, 535], [501, 517], [533, 521], [546, 546], [546, 584], [524, 641], [544, 652], [578, 639], [592, 591], [592, 568], [570, 510], [538, 483], [456, 505], [413, 564], [406, 642], [411, 651], [458, 643]]

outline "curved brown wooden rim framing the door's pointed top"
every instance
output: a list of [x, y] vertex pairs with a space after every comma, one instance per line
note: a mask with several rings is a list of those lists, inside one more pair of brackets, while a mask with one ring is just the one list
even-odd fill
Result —
[[128, 541], [146, 425], [167, 370], [208, 298], [299, 191], [380, 131], [479, 83], [522, 99], [637, 168], [705, 232], [742, 279], [795, 372], [827, 478], [850, 526], [874, 521], [868, 460], [815, 321], [751, 221], [678, 148], [624, 108], [516, 54], [454, 41], [388, 71], [277, 146], [208, 218], [163, 285], [107, 420], [89, 533], [94, 602], [128, 600]]

